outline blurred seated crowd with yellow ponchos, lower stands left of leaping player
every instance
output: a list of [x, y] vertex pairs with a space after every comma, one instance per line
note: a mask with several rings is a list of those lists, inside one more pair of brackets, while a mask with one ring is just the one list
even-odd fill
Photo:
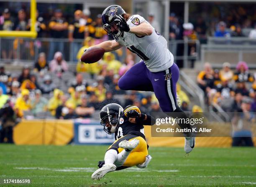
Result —
[[137, 105], [143, 112], [159, 111], [156, 98], [152, 101], [152, 93], [119, 89], [119, 77], [133, 64], [131, 54], [127, 55], [122, 65], [115, 60], [113, 53], [108, 52], [98, 63], [78, 62], [74, 74], [69, 71], [61, 52], [56, 52], [49, 64], [46, 55], [40, 53], [34, 67], [26, 66], [20, 73], [5, 72], [5, 67], [1, 65], [0, 108], [7, 102], [17, 117], [57, 119], [98, 119], [97, 111], [112, 102], [122, 106]]

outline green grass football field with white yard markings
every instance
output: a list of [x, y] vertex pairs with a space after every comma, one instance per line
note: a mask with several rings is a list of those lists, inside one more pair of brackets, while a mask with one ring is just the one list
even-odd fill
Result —
[[[107, 146], [0, 145], [0, 186], [33, 187], [247, 187], [256, 186], [255, 148], [150, 147], [146, 169], [132, 167], [91, 180]], [[30, 185], [3, 184], [30, 179]]]

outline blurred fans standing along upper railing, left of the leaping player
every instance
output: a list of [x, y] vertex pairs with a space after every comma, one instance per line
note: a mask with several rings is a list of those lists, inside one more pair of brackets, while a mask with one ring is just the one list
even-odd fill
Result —
[[[26, 31], [30, 30], [30, 25], [31, 20], [28, 19], [28, 12], [24, 9], [18, 11], [16, 19], [11, 15], [8, 8], [3, 11], [0, 17], [0, 30]], [[68, 38], [69, 42], [72, 43], [72, 52], [75, 54], [80, 47], [82, 47], [82, 42], [73, 42], [75, 39], [93, 37], [97, 44], [108, 38], [107, 33], [102, 28], [101, 15], [97, 15], [96, 20], [92, 20], [90, 18], [90, 10], [84, 10], [83, 12], [82, 10], [76, 10], [71, 22], [66, 20], [60, 9], [56, 9], [49, 20], [45, 20], [45, 18], [40, 16], [37, 12], [36, 30], [38, 33], [37, 38]], [[9, 45], [5, 44], [1, 46], [3, 59], [15, 59], [14, 51], [17, 49], [18, 42], [20, 41], [16, 39]], [[23, 44], [23, 42], [21, 42], [21, 44]], [[35, 45], [41, 48], [42, 43], [38, 41]], [[8, 48], [6, 46], [8, 46]], [[33, 43], [29, 44], [27, 47], [30, 47], [33, 51]], [[48, 53], [47, 60], [51, 60], [54, 57], [54, 53], [57, 51], [64, 53], [64, 42], [59, 42], [58, 40], [51, 41], [48, 51], [45, 51]], [[33, 56], [33, 54], [31, 54], [31, 56]], [[73, 61], [77, 61], [75, 55]]]

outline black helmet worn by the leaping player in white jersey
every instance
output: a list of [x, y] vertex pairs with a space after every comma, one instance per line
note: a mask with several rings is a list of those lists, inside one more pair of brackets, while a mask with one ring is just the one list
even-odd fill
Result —
[[116, 15], [123, 16], [125, 11], [119, 5], [111, 5], [102, 12], [102, 24], [103, 29], [108, 32], [108, 35], [113, 35], [113, 37], [118, 40], [118, 37], [123, 33], [120, 31], [118, 27], [115, 25]]

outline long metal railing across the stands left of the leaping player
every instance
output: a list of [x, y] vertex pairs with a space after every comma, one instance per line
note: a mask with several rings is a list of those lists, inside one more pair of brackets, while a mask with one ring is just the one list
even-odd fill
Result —
[[[67, 62], [77, 62], [77, 52], [83, 43], [83, 39], [69, 42], [67, 38], [0, 38], [0, 61], [35, 62], [40, 52], [45, 52], [50, 61], [60, 51]], [[118, 60], [123, 61], [124, 57], [125, 51]]]

